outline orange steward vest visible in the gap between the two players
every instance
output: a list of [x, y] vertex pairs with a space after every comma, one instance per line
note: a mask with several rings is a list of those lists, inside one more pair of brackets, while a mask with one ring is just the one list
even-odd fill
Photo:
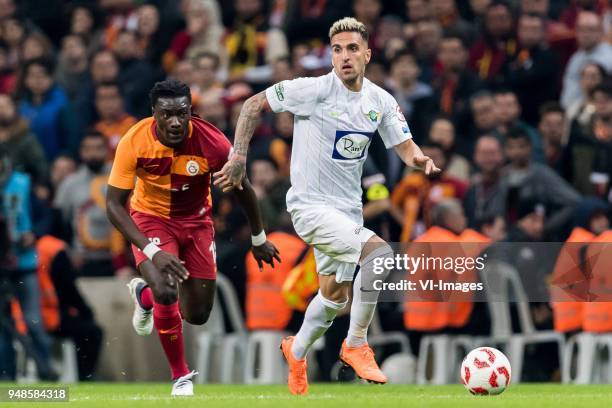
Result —
[[278, 248], [282, 262], [275, 262], [274, 268], [264, 263], [260, 271], [252, 254], [247, 254], [246, 326], [249, 330], [282, 330], [293, 315], [283, 298], [282, 287], [306, 244], [284, 232], [273, 232], [268, 240]]

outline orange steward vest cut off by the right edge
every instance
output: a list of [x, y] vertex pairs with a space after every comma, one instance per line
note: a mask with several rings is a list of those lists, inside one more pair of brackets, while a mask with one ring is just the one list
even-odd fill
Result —
[[582, 328], [584, 331], [605, 333], [612, 332], [612, 302], [609, 293], [599, 294], [596, 289], [607, 289], [612, 287], [612, 230], [603, 232], [593, 238], [587, 248], [587, 263], [591, 271], [591, 289], [601, 301], [584, 304], [584, 320]]

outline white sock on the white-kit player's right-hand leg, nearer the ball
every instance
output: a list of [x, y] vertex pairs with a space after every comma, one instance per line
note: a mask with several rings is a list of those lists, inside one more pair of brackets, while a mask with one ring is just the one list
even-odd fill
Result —
[[[376, 275], [372, 271], [375, 258], [386, 258], [393, 256], [393, 251], [388, 245], [382, 245], [373, 250], [361, 263], [361, 268], [353, 283], [353, 303], [351, 304], [351, 321], [346, 337], [346, 344], [349, 347], [359, 347], [368, 342], [368, 327], [376, 311], [376, 303], [380, 291], [372, 290], [372, 281], [376, 279], [386, 279], [388, 272]], [[362, 281], [363, 278], [363, 281]], [[369, 289], [364, 299], [361, 288]]]

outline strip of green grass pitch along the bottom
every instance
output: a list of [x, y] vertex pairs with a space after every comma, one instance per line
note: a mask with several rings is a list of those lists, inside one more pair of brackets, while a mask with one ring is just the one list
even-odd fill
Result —
[[[3, 384], [7, 385], [7, 384]], [[38, 387], [38, 385], [34, 385]], [[71, 385], [69, 402], [6, 403], [1, 407], [609, 407], [612, 385], [510, 386], [499, 396], [472, 396], [461, 385], [312, 384], [308, 396], [285, 386], [197, 385], [191, 398], [170, 397], [170, 384], [96, 383]]]

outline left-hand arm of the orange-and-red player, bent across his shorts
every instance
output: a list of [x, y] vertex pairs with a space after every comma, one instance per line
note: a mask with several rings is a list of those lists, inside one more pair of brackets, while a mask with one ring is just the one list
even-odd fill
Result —
[[106, 214], [108, 219], [126, 239], [140, 248], [149, 257], [159, 271], [172, 276], [179, 282], [184, 281], [189, 277], [189, 272], [187, 272], [183, 263], [176, 256], [162, 251], [154, 243], [149, 242], [125, 209], [131, 192], [132, 190], [108, 185], [106, 192]]

